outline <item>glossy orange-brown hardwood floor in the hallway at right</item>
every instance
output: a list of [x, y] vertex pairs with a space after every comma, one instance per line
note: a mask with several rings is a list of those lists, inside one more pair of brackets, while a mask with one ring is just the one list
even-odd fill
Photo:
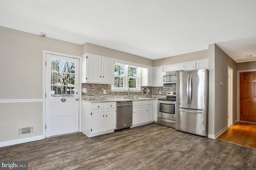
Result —
[[217, 139], [256, 148], [256, 124], [236, 122]]

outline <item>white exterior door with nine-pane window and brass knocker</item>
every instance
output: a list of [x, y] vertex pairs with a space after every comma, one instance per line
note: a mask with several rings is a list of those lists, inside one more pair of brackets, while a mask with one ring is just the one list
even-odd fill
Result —
[[46, 137], [79, 131], [79, 59], [46, 54]]

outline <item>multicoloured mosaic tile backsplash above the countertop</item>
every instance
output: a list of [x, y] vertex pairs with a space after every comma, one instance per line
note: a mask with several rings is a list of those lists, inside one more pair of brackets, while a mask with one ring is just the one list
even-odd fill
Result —
[[[86, 93], [82, 93], [82, 99], [101, 99], [101, 98], [127, 98], [128, 91], [111, 91], [111, 85], [108, 84], [96, 84], [96, 83], [82, 83], [82, 88], [86, 88]], [[176, 91], [176, 84], [164, 85], [164, 87], [148, 87], [148, 95], [140, 92], [130, 93], [131, 97], [155, 97], [155, 96], [166, 96], [167, 91]], [[103, 90], [106, 90], [106, 94], [103, 94]], [[159, 94], [161, 91], [161, 94]]]

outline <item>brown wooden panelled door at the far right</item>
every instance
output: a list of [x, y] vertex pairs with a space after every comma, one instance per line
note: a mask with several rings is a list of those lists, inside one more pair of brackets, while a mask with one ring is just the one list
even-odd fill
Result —
[[256, 71], [240, 73], [240, 121], [256, 123]]

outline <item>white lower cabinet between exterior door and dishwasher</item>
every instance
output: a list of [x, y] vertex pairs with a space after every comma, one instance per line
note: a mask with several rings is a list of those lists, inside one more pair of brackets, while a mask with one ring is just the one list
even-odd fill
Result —
[[82, 101], [82, 132], [88, 137], [114, 132], [116, 102], [88, 103]]

